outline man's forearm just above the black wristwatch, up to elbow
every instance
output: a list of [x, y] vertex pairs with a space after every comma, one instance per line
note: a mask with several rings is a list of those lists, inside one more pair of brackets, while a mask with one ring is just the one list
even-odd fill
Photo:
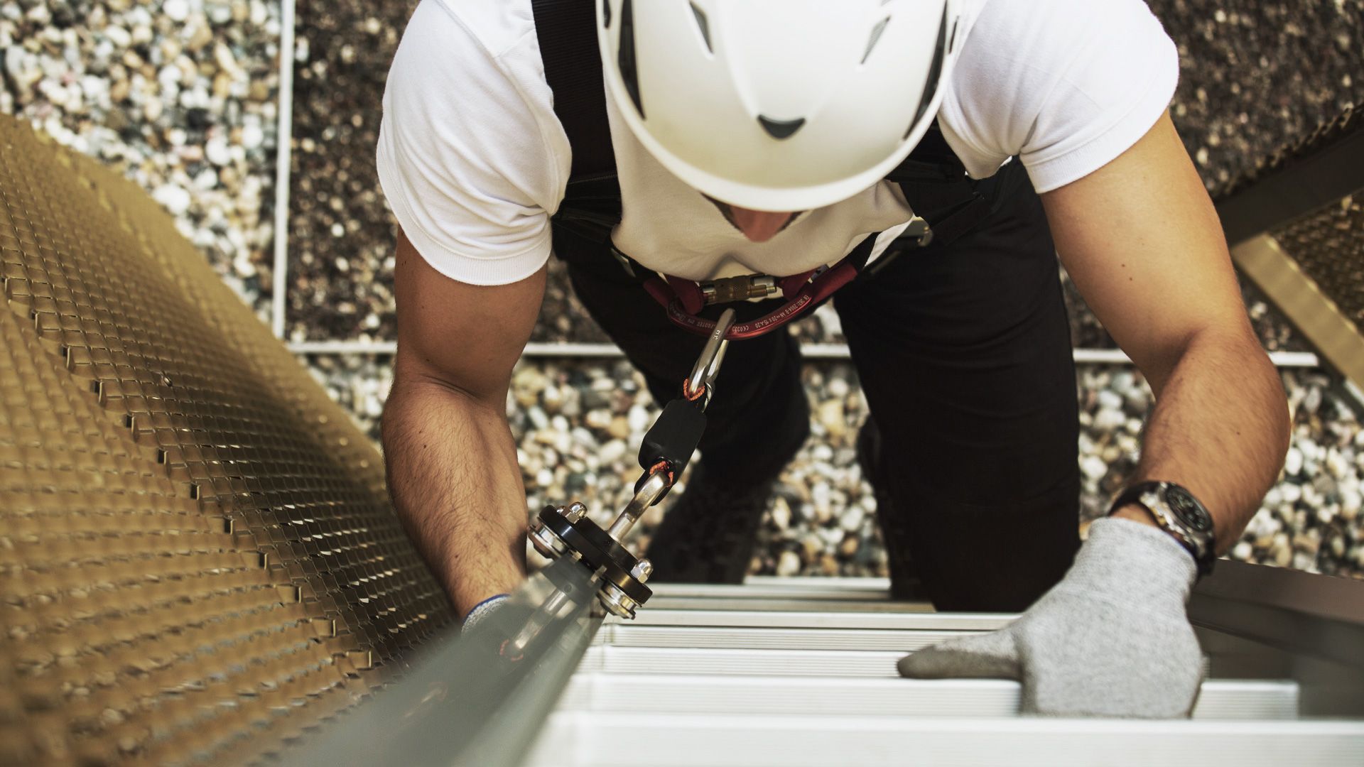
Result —
[[[1213, 515], [1222, 553], [1259, 509], [1288, 442], [1288, 401], [1264, 351], [1254, 340], [1203, 333], [1157, 392], [1133, 482], [1188, 487]], [[1144, 512], [1120, 516], [1142, 519]]]

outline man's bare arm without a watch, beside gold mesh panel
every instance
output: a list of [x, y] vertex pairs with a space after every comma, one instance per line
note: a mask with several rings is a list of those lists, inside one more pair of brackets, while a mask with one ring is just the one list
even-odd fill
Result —
[[383, 409], [389, 493], [461, 616], [525, 575], [525, 487], [506, 394], [544, 274], [458, 283], [398, 233], [398, 352]]

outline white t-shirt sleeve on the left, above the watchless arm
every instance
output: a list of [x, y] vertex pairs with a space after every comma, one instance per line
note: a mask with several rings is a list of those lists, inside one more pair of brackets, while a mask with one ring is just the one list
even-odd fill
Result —
[[487, 34], [477, 14], [417, 5], [389, 70], [375, 153], [417, 252], [475, 285], [516, 283], [544, 265], [570, 162], [533, 22], [496, 20]]

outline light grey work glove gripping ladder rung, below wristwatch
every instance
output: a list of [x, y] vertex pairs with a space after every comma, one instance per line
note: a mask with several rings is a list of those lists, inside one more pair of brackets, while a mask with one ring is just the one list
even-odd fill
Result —
[[1061, 583], [1018, 621], [907, 655], [900, 674], [1019, 680], [1026, 714], [1188, 717], [1203, 661], [1184, 611], [1196, 572], [1162, 530], [1098, 520]]

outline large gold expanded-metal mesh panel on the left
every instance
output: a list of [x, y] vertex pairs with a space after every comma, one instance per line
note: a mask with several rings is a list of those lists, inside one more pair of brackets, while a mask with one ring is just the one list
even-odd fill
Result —
[[451, 618], [382, 460], [131, 183], [0, 117], [0, 763], [269, 753]]

